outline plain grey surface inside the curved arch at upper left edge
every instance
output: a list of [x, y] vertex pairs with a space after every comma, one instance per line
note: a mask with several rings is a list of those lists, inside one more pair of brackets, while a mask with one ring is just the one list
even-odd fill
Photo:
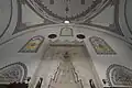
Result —
[[13, 13], [13, 1], [12, 0], [4, 0], [0, 1], [0, 37], [4, 35], [7, 30], [9, 29], [12, 20]]

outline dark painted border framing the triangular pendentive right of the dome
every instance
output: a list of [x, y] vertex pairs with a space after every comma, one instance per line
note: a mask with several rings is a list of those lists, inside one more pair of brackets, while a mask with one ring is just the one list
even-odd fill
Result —
[[[99, 25], [99, 24], [94, 24], [90, 22], [91, 19], [94, 19], [95, 16], [98, 16], [99, 13], [101, 13], [108, 6], [112, 4], [114, 7], [114, 14], [113, 14], [113, 23], [109, 26], [105, 26], [105, 25]], [[79, 24], [84, 24], [84, 25], [90, 25], [90, 26], [95, 26], [95, 28], [99, 28], [106, 31], [110, 31], [113, 32], [116, 34], [119, 34], [121, 36], [124, 36], [124, 34], [122, 33], [122, 30], [120, 28], [119, 24], [119, 0], [110, 0], [101, 11], [99, 11], [96, 15], [91, 16], [90, 19], [86, 20], [82, 23]]]

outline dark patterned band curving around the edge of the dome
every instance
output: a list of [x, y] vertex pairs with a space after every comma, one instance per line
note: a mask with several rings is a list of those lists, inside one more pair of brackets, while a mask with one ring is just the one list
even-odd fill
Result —
[[[35, 0], [25, 0], [25, 1], [30, 6], [30, 8], [32, 8], [41, 18], [45, 18], [46, 16], [47, 19], [53, 19], [55, 22], [58, 23], [58, 22], [62, 22], [64, 20], [69, 20], [69, 19], [70, 20], [75, 20], [76, 19], [76, 20], [81, 20], [81, 21], [85, 20], [85, 19], [88, 19], [89, 14], [87, 14], [87, 13], [92, 13], [96, 9], [100, 9], [100, 8], [97, 8], [97, 7], [99, 7], [99, 6], [97, 6], [98, 3], [100, 4], [100, 7], [103, 7], [103, 4], [106, 4], [107, 2], [109, 2], [111, 0], [102, 0], [101, 2], [98, 2], [98, 0], [94, 1], [95, 4], [91, 6], [91, 8], [90, 8], [91, 10], [90, 11], [89, 11], [89, 8], [88, 8], [85, 12], [82, 12], [82, 13], [76, 15], [76, 16], [72, 16], [72, 18], [62, 18], [62, 16], [59, 16], [57, 14], [54, 14], [52, 11], [50, 11], [47, 9], [47, 7], [43, 6], [38, 1], [35, 1]], [[37, 9], [37, 8], [33, 8], [33, 6], [40, 7], [41, 10]], [[36, 9], [40, 10], [40, 11], [36, 11]], [[45, 14], [45, 16], [42, 15], [42, 14]], [[77, 18], [79, 18], [79, 19], [77, 19]]]

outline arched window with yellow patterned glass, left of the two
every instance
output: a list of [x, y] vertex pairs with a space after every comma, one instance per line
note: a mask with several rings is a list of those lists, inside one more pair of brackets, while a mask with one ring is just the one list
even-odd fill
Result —
[[41, 44], [43, 43], [44, 37], [38, 35], [32, 37], [19, 52], [20, 53], [36, 53]]

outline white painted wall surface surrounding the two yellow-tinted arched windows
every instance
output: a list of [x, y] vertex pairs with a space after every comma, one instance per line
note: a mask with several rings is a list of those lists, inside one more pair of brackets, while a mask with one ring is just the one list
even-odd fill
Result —
[[[63, 26], [62, 26], [63, 28]], [[28, 76], [33, 77], [35, 69], [37, 68], [41, 58], [44, 55], [44, 51], [48, 45], [48, 34], [55, 33], [58, 36], [56, 40], [62, 41], [74, 41], [77, 40], [76, 34], [82, 33], [86, 35], [85, 44], [90, 54], [90, 58], [96, 67], [97, 74], [99, 75], [100, 80], [106, 79], [106, 70], [111, 64], [119, 64], [132, 69], [132, 51], [128, 47], [128, 44], [124, 41], [121, 41], [118, 37], [111, 36], [103, 32], [98, 32], [94, 29], [76, 28], [74, 26], [74, 36], [59, 36], [61, 26], [53, 26], [47, 29], [37, 30], [34, 32], [25, 33], [22, 36], [19, 36], [3, 45], [0, 46], [0, 67], [3, 67], [8, 64], [22, 62], [28, 66]], [[18, 53], [18, 51], [32, 37], [35, 35], [43, 35], [45, 37], [44, 43], [37, 53]], [[99, 36], [103, 38], [116, 52], [117, 55], [97, 55], [94, 47], [89, 42], [90, 36]], [[56, 61], [55, 61], [56, 62]], [[54, 65], [54, 62], [51, 63]], [[45, 70], [45, 69], [44, 69]], [[107, 86], [107, 85], [105, 85]]]

